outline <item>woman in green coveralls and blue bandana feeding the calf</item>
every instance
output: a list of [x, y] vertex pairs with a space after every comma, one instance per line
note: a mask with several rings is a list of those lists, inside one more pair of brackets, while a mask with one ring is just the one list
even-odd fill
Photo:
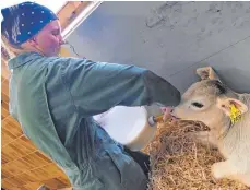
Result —
[[40, 4], [1, 12], [2, 35], [19, 54], [9, 61], [10, 112], [26, 136], [64, 170], [73, 189], [146, 189], [148, 156], [126, 151], [92, 116], [117, 105], [175, 106], [179, 92], [146, 69], [58, 57], [60, 24]]

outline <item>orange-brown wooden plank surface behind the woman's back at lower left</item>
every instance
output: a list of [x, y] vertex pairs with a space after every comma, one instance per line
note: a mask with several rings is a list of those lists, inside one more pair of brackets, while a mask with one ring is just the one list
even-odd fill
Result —
[[41, 185], [46, 185], [49, 189], [70, 187], [63, 171], [25, 138], [20, 124], [9, 115], [9, 81], [4, 78], [1, 80], [2, 188], [36, 190]]

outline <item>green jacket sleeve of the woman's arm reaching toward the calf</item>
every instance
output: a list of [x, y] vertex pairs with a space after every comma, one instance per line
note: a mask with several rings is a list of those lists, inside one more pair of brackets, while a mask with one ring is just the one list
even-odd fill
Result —
[[117, 105], [176, 106], [180, 100], [179, 91], [169, 82], [134, 66], [69, 58], [61, 73], [75, 106], [86, 117]]

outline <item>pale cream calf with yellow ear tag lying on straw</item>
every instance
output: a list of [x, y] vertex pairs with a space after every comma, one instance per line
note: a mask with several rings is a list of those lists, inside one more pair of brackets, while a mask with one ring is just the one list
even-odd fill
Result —
[[172, 115], [202, 121], [210, 128], [191, 135], [216, 146], [225, 157], [225, 162], [212, 166], [214, 178], [234, 179], [250, 187], [250, 94], [231, 91], [210, 67], [197, 73], [202, 81], [187, 90]]

